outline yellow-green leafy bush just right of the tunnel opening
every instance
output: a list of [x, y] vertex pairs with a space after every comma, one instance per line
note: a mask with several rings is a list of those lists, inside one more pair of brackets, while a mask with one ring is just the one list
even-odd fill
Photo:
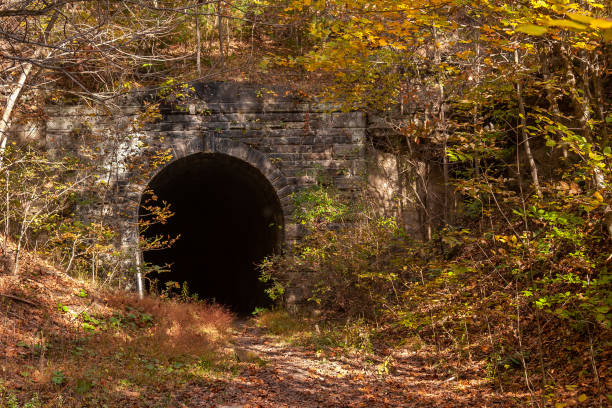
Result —
[[[289, 254], [261, 264], [262, 280], [274, 281], [270, 294], [279, 298], [291, 279], [308, 276], [308, 299], [329, 313], [376, 318], [397, 295], [399, 263], [406, 255], [405, 234], [397, 223], [360, 212], [331, 188], [317, 186], [293, 196], [294, 220], [308, 234]], [[339, 224], [339, 221], [344, 221]]]

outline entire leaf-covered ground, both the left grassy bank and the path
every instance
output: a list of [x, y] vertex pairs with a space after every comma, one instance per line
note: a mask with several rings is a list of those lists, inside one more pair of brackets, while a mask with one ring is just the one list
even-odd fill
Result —
[[358, 326], [283, 311], [236, 320], [201, 302], [138, 300], [24, 259], [19, 275], [0, 271], [0, 408], [530, 403], [520, 373], [502, 391], [469, 353], [347, 327]]

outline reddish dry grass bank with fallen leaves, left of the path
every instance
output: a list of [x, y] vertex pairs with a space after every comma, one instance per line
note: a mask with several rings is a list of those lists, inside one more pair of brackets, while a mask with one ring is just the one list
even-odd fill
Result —
[[100, 290], [27, 258], [20, 276], [0, 272], [12, 296], [0, 296], [0, 408], [164, 407], [232, 370], [225, 309]]

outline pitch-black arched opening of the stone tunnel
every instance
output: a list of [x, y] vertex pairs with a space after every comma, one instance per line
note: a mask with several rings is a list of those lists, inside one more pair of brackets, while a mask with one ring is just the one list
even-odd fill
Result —
[[[198, 153], [167, 165], [149, 183], [156, 201], [174, 215], [141, 232], [149, 240], [179, 237], [169, 248], [143, 252], [145, 262], [170, 271], [148, 277], [164, 288], [187, 282], [200, 299], [246, 315], [269, 305], [255, 265], [280, 250], [283, 213], [267, 178], [247, 162], [220, 153]], [[140, 219], [151, 219], [144, 194]], [[149, 280], [150, 282], [151, 280]]]

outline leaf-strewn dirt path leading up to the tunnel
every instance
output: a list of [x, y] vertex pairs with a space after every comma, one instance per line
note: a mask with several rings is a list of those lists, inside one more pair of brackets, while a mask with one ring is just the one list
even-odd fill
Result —
[[[213, 387], [192, 390], [184, 407], [490, 407], [512, 406], [482, 379], [442, 375], [418, 353], [397, 351], [385, 365], [361, 353], [316, 353], [280, 343], [244, 323], [237, 359], [248, 366]], [[386, 367], [386, 369], [385, 369]], [[185, 396], [187, 397], [187, 395]]]

